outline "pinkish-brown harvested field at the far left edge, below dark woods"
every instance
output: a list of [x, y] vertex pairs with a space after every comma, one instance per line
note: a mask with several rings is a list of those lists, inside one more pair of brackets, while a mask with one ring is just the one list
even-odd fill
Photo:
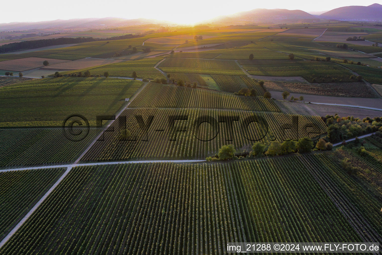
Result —
[[9, 70], [9, 71], [26, 71], [39, 67], [43, 67], [42, 62], [48, 60], [49, 66], [57, 63], [63, 63], [68, 60], [52, 59], [52, 58], [19, 58], [12, 60], [5, 60], [0, 62], [0, 70]]

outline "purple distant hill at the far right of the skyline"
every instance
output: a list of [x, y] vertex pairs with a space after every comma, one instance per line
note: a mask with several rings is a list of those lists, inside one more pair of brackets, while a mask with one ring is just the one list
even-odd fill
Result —
[[369, 6], [345, 6], [322, 13], [319, 17], [348, 21], [382, 21], [382, 5], [374, 3]]

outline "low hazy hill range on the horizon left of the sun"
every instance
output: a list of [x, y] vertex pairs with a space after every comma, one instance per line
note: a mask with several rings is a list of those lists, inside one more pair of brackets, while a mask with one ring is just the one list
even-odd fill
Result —
[[1, 23], [0, 31], [31, 30], [31, 29], [95, 29], [118, 26], [136, 26], [141, 24], [168, 24], [155, 19], [124, 19], [124, 18], [86, 18], [86, 19], [57, 19], [40, 22], [12, 22]]

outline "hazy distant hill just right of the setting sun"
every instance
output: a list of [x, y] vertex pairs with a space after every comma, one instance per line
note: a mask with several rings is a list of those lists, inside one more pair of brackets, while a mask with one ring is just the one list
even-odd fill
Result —
[[229, 16], [220, 16], [208, 21], [204, 21], [204, 23], [227, 26], [244, 25], [250, 23], [282, 24], [301, 21], [319, 21], [319, 18], [301, 10], [254, 9], [251, 11], [238, 12]]

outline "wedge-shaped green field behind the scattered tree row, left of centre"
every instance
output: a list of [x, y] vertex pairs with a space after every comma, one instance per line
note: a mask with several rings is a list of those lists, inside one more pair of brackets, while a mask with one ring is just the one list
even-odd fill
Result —
[[131, 77], [133, 71], [138, 75], [138, 78], [154, 79], [156, 77], [162, 77], [162, 73], [154, 68], [161, 58], [147, 58], [141, 60], [133, 60], [126, 62], [119, 62], [110, 65], [102, 65], [99, 67], [84, 68], [73, 71], [62, 72], [63, 74], [78, 73], [89, 70], [94, 75], [104, 75], [104, 72], [108, 72], [110, 76]]

